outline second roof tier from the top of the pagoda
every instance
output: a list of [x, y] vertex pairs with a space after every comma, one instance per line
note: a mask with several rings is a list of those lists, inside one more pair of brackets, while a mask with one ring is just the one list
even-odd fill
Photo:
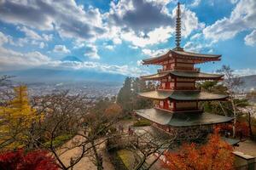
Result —
[[141, 78], [143, 80], [158, 80], [160, 78], [168, 77], [169, 75], [174, 77], [195, 78], [197, 80], [218, 80], [224, 76], [219, 74], [210, 74], [194, 71], [163, 71], [153, 75], [143, 76]]

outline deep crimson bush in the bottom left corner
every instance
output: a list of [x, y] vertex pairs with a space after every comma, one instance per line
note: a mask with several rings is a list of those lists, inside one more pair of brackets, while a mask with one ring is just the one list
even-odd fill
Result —
[[0, 169], [2, 170], [57, 170], [58, 166], [53, 157], [44, 150], [5, 151], [0, 154]]

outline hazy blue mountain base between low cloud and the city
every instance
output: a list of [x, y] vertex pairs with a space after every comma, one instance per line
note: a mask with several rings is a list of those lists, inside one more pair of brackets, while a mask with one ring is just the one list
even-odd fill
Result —
[[29, 69], [4, 71], [1, 75], [15, 76], [15, 82], [124, 82], [125, 76], [95, 71]]

